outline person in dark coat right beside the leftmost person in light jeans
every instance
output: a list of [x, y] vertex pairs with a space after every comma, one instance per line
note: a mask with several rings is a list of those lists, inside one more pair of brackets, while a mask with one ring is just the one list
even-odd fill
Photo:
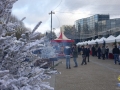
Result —
[[74, 66], [74, 67], [78, 67], [78, 63], [77, 63], [78, 48], [77, 48], [76, 44], [73, 45], [73, 48], [72, 48], [72, 56], [73, 56], [73, 60], [74, 60], [74, 63], [75, 63], [75, 66]]

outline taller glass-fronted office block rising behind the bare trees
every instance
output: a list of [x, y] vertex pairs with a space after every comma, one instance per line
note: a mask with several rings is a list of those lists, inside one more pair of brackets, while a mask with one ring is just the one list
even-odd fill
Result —
[[98, 36], [98, 22], [103, 20], [109, 20], [109, 15], [96, 14], [76, 20], [75, 28], [80, 32], [80, 40], [83, 41]]

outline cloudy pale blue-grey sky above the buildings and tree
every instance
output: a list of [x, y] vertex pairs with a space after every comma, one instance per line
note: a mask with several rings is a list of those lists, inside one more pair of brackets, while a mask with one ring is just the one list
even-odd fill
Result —
[[74, 25], [75, 20], [94, 14], [110, 14], [110, 18], [120, 18], [120, 0], [18, 0], [12, 13], [22, 19], [26, 27], [33, 29], [42, 21], [37, 31], [50, 30], [51, 16], [54, 11], [53, 28], [58, 33], [62, 25]]

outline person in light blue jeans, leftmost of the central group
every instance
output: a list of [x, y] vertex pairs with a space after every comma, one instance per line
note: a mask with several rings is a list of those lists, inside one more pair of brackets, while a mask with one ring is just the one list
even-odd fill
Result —
[[66, 69], [71, 69], [71, 67], [70, 67], [70, 55], [72, 53], [71, 53], [71, 48], [69, 46], [65, 46], [64, 54], [65, 54], [65, 57], [66, 57]]

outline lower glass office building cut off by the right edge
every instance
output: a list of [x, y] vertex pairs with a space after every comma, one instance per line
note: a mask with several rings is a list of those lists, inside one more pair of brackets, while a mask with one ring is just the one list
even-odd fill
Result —
[[98, 22], [98, 36], [107, 37], [111, 34], [114, 36], [118, 36], [120, 34], [120, 18]]

